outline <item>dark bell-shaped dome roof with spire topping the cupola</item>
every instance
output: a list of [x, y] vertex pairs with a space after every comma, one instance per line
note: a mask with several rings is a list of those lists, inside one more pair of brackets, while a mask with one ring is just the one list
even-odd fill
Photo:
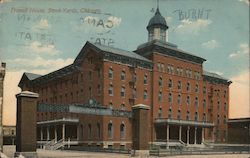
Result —
[[156, 9], [155, 15], [149, 20], [147, 30], [155, 26], [159, 26], [163, 29], [168, 29], [167, 22], [165, 18], [161, 15], [158, 7]]

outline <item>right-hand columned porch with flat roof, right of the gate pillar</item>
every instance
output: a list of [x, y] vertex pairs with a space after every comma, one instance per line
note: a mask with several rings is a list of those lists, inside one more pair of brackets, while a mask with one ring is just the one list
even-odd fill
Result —
[[183, 145], [203, 144], [205, 128], [213, 127], [214, 124], [209, 122], [157, 118], [154, 123], [154, 142], [166, 144], [167, 147], [171, 142]]

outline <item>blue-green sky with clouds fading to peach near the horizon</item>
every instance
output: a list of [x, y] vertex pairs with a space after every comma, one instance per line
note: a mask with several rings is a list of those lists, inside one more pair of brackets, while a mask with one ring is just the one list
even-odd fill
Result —
[[[0, 0], [0, 60], [7, 63], [3, 123], [14, 125], [23, 72], [71, 64], [86, 41], [133, 51], [147, 42], [156, 0]], [[230, 85], [229, 117], [250, 117], [249, 1], [159, 0], [168, 41], [205, 58]]]

